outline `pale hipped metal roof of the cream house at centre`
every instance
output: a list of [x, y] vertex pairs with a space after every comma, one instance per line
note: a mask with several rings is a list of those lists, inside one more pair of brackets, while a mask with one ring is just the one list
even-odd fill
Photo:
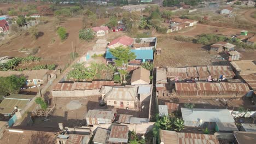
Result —
[[112, 91], [105, 95], [104, 99], [117, 101], [136, 101], [137, 87], [113, 87]]

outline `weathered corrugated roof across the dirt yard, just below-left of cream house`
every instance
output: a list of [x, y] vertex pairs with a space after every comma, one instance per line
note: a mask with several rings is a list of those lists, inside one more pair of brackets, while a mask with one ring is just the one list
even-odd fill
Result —
[[115, 112], [113, 111], [100, 111], [100, 110], [89, 110], [86, 114], [86, 118], [106, 118], [114, 119]]

